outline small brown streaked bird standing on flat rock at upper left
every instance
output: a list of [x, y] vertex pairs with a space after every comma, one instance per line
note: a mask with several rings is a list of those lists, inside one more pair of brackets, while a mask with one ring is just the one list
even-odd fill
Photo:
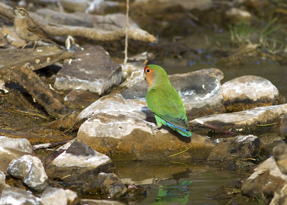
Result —
[[14, 8], [13, 11], [16, 15], [14, 19], [15, 32], [21, 39], [26, 41], [22, 49], [25, 48], [28, 42], [34, 41], [34, 51], [38, 40], [50, 42], [58, 48], [63, 49], [63, 47], [51, 40], [50, 36], [46, 34], [46, 32], [34, 22], [34, 20], [29, 16], [26, 9], [18, 6]]

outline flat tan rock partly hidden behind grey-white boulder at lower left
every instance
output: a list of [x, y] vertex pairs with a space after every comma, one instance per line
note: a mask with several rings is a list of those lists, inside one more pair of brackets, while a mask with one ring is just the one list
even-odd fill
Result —
[[3, 173], [7, 174], [7, 168], [9, 166], [9, 163], [19, 157], [19, 156], [24, 156], [26, 154], [30, 154], [31, 156], [36, 156], [42, 160], [42, 162], [45, 162], [45, 157], [44, 156], [39, 156], [36, 154], [31, 154], [27, 152], [21, 152], [18, 150], [10, 149], [10, 148], [4, 148], [0, 147], [0, 171]]

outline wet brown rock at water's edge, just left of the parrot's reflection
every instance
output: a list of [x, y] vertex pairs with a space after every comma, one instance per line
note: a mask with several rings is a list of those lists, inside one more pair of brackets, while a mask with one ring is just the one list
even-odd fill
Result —
[[127, 193], [128, 189], [121, 179], [114, 173], [99, 173], [97, 177], [92, 176], [82, 187], [82, 193], [97, 194], [97, 188], [104, 196], [102, 198], [116, 199]]

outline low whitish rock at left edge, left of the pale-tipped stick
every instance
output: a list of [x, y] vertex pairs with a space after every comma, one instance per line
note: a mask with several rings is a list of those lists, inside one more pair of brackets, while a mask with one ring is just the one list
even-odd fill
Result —
[[19, 139], [19, 138], [9, 138], [5, 136], [0, 136], [0, 144], [1, 147], [11, 148], [15, 150], [19, 150], [21, 152], [34, 153], [32, 145], [27, 139]]

